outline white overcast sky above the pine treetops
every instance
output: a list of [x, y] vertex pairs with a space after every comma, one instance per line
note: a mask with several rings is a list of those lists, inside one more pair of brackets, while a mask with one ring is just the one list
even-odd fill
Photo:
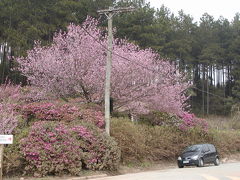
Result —
[[229, 21], [237, 12], [240, 13], [240, 0], [146, 0], [155, 8], [160, 8], [162, 4], [170, 9], [175, 15], [179, 10], [185, 14], [190, 14], [194, 21], [199, 21], [202, 14], [207, 12], [214, 19], [220, 16], [227, 18]]

